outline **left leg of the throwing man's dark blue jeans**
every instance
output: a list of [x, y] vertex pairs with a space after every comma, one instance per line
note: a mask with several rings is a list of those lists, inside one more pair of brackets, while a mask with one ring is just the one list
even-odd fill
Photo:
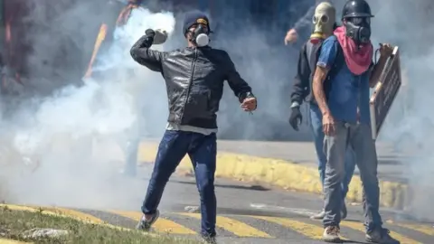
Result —
[[142, 205], [145, 214], [153, 214], [158, 208], [165, 185], [176, 167], [187, 154], [192, 134], [184, 131], [166, 130], [158, 146], [156, 162], [151, 180], [147, 185], [146, 197]]

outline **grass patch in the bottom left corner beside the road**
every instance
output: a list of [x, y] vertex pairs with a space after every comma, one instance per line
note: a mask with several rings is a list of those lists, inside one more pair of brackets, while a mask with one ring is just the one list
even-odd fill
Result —
[[[34, 228], [67, 230], [69, 234], [54, 239], [24, 238], [24, 231]], [[14, 211], [7, 207], [0, 207], [0, 238], [33, 243], [200, 243], [193, 239], [180, 239], [166, 235], [150, 235], [137, 230], [118, 230], [105, 225], [44, 214], [43, 211]]]

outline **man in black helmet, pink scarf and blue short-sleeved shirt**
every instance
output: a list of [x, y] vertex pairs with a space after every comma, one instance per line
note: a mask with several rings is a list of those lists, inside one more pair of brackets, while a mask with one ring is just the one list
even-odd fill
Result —
[[316, 62], [313, 93], [321, 110], [325, 133], [325, 231], [327, 242], [340, 241], [344, 155], [352, 147], [363, 182], [363, 211], [366, 240], [372, 243], [399, 243], [382, 228], [379, 213], [380, 189], [377, 155], [369, 113], [370, 87], [382, 73], [392, 47], [383, 44], [381, 57], [373, 64], [371, 7], [364, 0], [349, 0], [335, 34], [323, 42]]

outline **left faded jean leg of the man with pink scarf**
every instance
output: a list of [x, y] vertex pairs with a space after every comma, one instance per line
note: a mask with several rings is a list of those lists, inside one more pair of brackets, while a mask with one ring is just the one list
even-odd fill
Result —
[[335, 136], [325, 136], [324, 149], [327, 157], [325, 164], [325, 217], [323, 224], [327, 226], [339, 226], [341, 221], [342, 182], [344, 180], [344, 157], [347, 147], [348, 128], [344, 123], [336, 123]]

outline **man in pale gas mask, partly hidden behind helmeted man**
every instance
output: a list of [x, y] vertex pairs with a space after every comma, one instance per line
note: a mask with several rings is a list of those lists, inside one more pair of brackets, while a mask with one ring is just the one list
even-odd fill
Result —
[[[309, 122], [312, 134], [314, 136], [314, 143], [316, 149], [316, 156], [318, 159], [318, 171], [321, 185], [324, 187], [325, 178], [325, 163], [326, 157], [324, 153], [324, 132], [322, 124], [321, 111], [316, 104], [316, 100], [312, 96], [312, 77], [316, 69], [316, 60], [321, 50], [322, 42], [333, 35], [336, 27], [335, 23], [335, 6], [323, 2], [316, 6], [313, 16], [314, 30], [308, 40], [302, 47], [298, 56], [297, 75], [294, 80], [294, 90], [291, 94], [291, 116], [289, 117], [289, 124], [295, 130], [298, 130], [298, 125], [301, 124], [302, 115], [300, 106], [304, 100], [309, 104]], [[345, 154], [345, 176], [342, 182], [342, 195], [345, 199], [348, 192], [348, 185], [354, 174], [355, 162], [354, 152], [348, 148]], [[346, 207], [343, 202], [341, 217], [346, 218]], [[325, 211], [312, 216], [312, 219], [322, 220], [325, 216]]]

